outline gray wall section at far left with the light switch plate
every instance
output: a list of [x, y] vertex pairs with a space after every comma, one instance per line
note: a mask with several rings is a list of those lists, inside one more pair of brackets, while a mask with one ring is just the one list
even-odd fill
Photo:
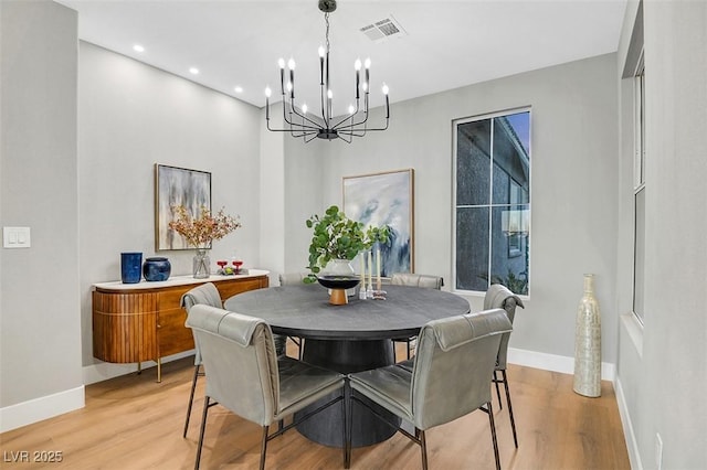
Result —
[[0, 250], [2, 428], [15, 412], [42, 419], [84, 403], [76, 21], [56, 3], [0, 2], [0, 224], [31, 228], [30, 248]]

